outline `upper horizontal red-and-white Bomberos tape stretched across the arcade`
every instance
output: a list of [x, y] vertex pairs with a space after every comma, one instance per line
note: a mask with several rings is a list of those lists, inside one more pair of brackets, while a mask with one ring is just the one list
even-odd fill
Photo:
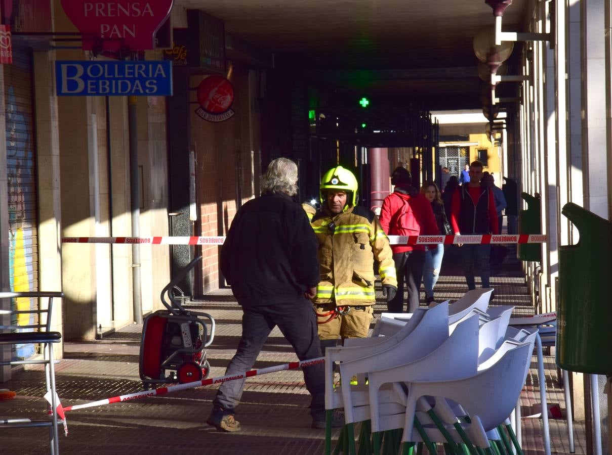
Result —
[[[62, 243], [139, 243], [144, 245], [223, 245], [225, 237], [64, 237]], [[433, 243], [471, 243], [475, 245], [503, 243], [545, 243], [546, 235], [499, 234], [499, 235], [389, 235], [391, 245], [431, 245]]]

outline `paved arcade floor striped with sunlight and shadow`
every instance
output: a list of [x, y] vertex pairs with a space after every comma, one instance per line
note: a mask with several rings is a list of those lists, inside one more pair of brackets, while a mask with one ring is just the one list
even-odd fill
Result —
[[[457, 252], [446, 253], [438, 300], [461, 297], [465, 280], [457, 276]], [[512, 256], [509, 255], [509, 256]], [[516, 305], [515, 314], [533, 314], [533, 308], [517, 261], [506, 259], [492, 279], [494, 305]], [[378, 292], [376, 313], [386, 309]], [[191, 302], [189, 308], [206, 311], [217, 322], [214, 343], [208, 349], [213, 377], [223, 375], [241, 333], [241, 309], [228, 289]], [[64, 405], [81, 404], [143, 390], [138, 376], [141, 326], [130, 325], [95, 342], [67, 342], [64, 360], [57, 366], [58, 393]], [[272, 331], [255, 368], [297, 360], [280, 331]], [[553, 357], [545, 357], [548, 402], [565, 410]], [[17, 391], [17, 398], [0, 401], [0, 416], [42, 416], [43, 373], [39, 368], [15, 371], [13, 380], [0, 388]], [[537, 364], [532, 359], [521, 394], [523, 416], [535, 413], [539, 402]], [[68, 414], [69, 435], [60, 438], [63, 453], [174, 454], [185, 449], [203, 454], [321, 454], [323, 430], [310, 428], [309, 396], [300, 371], [283, 371], [247, 380], [237, 419], [243, 430], [234, 434], [216, 431], [204, 423], [211, 409], [215, 387], [180, 391]], [[523, 418], [526, 454], [543, 454], [539, 418]], [[550, 420], [553, 453], [569, 453], [565, 420]], [[39, 454], [48, 451], [44, 429], [4, 430], [0, 453]], [[584, 424], [575, 423], [577, 454], [586, 453]]]

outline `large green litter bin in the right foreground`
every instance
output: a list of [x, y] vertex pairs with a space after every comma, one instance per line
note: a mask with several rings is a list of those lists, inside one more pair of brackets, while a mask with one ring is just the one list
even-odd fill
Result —
[[557, 364], [612, 375], [612, 224], [572, 202], [561, 213], [580, 240], [559, 247]]

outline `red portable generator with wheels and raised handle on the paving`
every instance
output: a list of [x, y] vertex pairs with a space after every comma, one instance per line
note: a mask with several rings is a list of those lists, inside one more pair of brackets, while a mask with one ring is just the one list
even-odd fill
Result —
[[139, 367], [145, 386], [199, 381], [209, 374], [211, 366], [204, 349], [214, 339], [215, 320], [208, 313], [187, 311], [174, 295], [174, 289], [179, 289], [177, 284], [201, 259], [202, 256], [195, 257], [163, 288], [161, 299], [167, 309], [144, 319]]

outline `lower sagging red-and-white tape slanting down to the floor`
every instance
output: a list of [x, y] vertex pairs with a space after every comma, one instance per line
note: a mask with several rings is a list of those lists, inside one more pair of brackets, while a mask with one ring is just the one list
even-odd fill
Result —
[[277, 366], [269, 366], [268, 368], [250, 370], [250, 371], [239, 373], [239, 374], [230, 374], [230, 375], [221, 376], [221, 377], [212, 377], [209, 379], [188, 382], [185, 384], [171, 385], [169, 387], [159, 387], [159, 388], [156, 388], [155, 390], [145, 390], [142, 392], [129, 393], [127, 395], [113, 396], [112, 398], [106, 398], [106, 399], [99, 400], [99, 401], [91, 401], [89, 403], [77, 404], [74, 406], [61, 407], [61, 405], [59, 405], [58, 414], [61, 412], [75, 411], [77, 409], [85, 409], [88, 407], [119, 403], [122, 401], [132, 401], [132, 400], [135, 400], [138, 398], [144, 398], [147, 396], [165, 395], [166, 393], [176, 392], [179, 390], [187, 390], [190, 388], [202, 387], [204, 385], [218, 384], [218, 383], [222, 383], [226, 381], [233, 381], [237, 379], [245, 379], [247, 377], [259, 376], [262, 374], [269, 374], [269, 373], [274, 373], [277, 371], [304, 368], [305, 366], [313, 366], [319, 363], [325, 363], [325, 358], [324, 357], [312, 358], [310, 360], [302, 360], [299, 362], [291, 362], [291, 363], [285, 363], [285, 364], [277, 365]]

